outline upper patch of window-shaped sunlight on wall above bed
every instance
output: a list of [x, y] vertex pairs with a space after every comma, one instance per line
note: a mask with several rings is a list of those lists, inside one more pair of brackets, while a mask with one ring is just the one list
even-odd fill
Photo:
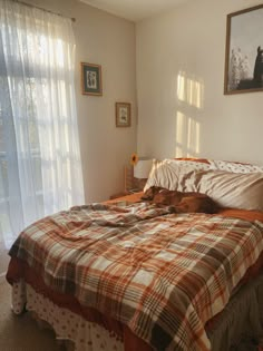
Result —
[[177, 76], [177, 98], [189, 106], [198, 109], [203, 108], [204, 82], [202, 79], [188, 77], [185, 72], [179, 71]]

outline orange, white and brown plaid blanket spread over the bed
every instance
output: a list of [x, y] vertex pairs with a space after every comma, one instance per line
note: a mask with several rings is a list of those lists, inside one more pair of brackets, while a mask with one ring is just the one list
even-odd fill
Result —
[[23, 231], [10, 255], [156, 350], [210, 350], [204, 325], [263, 251], [263, 223], [92, 204]]

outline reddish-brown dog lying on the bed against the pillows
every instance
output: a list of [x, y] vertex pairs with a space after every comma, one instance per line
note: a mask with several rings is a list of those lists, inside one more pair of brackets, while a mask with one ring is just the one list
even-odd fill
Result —
[[140, 198], [150, 201], [157, 206], [169, 206], [169, 211], [175, 213], [213, 214], [218, 211], [216, 203], [210, 196], [201, 193], [182, 193], [152, 186]]

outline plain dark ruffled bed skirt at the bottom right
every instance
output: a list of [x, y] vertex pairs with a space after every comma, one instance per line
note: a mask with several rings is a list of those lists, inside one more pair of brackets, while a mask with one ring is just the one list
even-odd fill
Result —
[[260, 351], [263, 345], [263, 274], [236, 292], [220, 318], [213, 320], [207, 335], [213, 351]]

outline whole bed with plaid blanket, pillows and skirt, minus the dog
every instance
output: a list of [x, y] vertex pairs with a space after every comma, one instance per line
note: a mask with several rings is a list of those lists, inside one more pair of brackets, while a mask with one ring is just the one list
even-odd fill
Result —
[[263, 167], [153, 163], [152, 187], [206, 194], [216, 214], [142, 194], [75, 206], [26, 228], [7, 280], [69, 350], [234, 350], [263, 337]]

